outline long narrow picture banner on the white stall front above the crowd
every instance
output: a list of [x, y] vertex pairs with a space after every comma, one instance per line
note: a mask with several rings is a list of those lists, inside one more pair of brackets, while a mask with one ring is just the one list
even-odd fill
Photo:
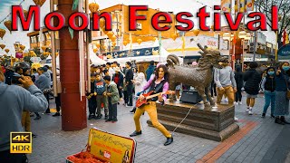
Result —
[[131, 49], [130, 53], [128, 51], [119, 51], [114, 53], [107, 53], [110, 57], [108, 58], [126, 58], [126, 57], [139, 57], [139, 56], [150, 56], [150, 55], [159, 55], [160, 47], [150, 47], [142, 49]]

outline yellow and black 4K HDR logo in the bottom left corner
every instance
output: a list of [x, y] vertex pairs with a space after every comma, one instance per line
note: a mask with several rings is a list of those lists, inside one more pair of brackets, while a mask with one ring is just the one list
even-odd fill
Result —
[[31, 132], [10, 132], [10, 153], [32, 153]]

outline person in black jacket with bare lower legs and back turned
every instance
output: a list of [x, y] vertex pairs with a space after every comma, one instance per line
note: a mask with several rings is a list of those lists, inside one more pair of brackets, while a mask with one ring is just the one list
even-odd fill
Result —
[[255, 105], [255, 99], [259, 93], [259, 84], [262, 76], [259, 72], [256, 72], [258, 66], [257, 62], [250, 62], [250, 69], [245, 73], [244, 81], [245, 91], [247, 92], [247, 112], [249, 115], [253, 115], [253, 107]]

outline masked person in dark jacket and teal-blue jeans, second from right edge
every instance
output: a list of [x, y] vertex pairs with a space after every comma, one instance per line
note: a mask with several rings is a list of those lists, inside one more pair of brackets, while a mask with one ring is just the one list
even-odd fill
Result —
[[266, 116], [266, 110], [269, 108], [271, 103], [271, 117], [275, 118], [274, 110], [275, 110], [275, 68], [269, 67], [266, 69], [266, 76], [263, 78], [261, 82], [262, 91], [264, 91], [265, 95], [265, 105], [262, 113], [262, 118]]

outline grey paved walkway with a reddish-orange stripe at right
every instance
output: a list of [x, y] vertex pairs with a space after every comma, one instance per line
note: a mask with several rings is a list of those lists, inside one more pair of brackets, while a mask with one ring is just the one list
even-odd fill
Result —
[[[285, 162], [290, 150], [290, 125], [274, 123], [269, 117], [261, 118], [264, 98], [256, 100], [254, 115], [246, 113], [245, 98], [243, 105], [236, 106], [237, 124], [240, 130], [224, 142], [201, 139], [180, 133], [173, 133], [174, 142], [164, 147], [165, 138], [160, 131], [147, 125], [147, 113], [141, 117], [142, 135], [136, 137], [137, 153], [135, 162], [266, 162], [276, 160]], [[51, 105], [51, 108], [54, 106]], [[129, 136], [134, 131], [131, 108], [118, 106], [118, 122], [106, 123], [104, 120], [88, 120], [88, 128], [79, 131], [64, 132], [61, 129], [61, 117], [43, 115], [41, 120], [32, 120], [32, 129], [37, 138], [33, 139], [33, 154], [29, 155], [32, 163], [65, 162], [65, 158], [85, 149], [89, 129], [96, 127], [122, 136]], [[289, 120], [287, 118], [287, 120]], [[285, 138], [287, 137], [287, 138]], [[278, 139], [286, 141], [277, 141]], [[277, 144], [278, 142], [278, 144]], [[280, 148], [283, 144], [284, 148]], [[283, 153], [281, 153], [283, 151]], [[268, 155], [268, 154], [271, 155]], [[277, 158], [279, 158], [277, 160]], [[290, 159], [288, 156], [287, 160]]]

